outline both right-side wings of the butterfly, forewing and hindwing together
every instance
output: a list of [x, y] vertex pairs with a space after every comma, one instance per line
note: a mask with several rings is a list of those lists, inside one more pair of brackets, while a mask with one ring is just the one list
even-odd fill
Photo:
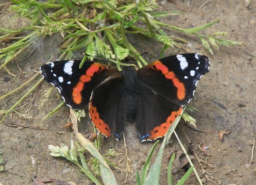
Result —
[[165, 135], [208, 71], [208, 57], [195, 53], [165, 57], [138, 70], [136, 128], [141, 141]]

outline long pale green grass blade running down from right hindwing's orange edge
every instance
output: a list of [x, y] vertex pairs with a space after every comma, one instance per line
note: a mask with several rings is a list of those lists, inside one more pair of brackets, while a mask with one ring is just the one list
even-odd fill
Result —
[[[182, 116], [182, 114], [181, 114]], [[150, 171], [148, 172], [148, 177], [146, 180], [146, 185], [158, 185], [159, 184], [159, 176], [161, 171], [161, 161], [162, 161], [162, 155], [164, 152], [164, 146], [169, 141], [172, 133], [174, 132], [174, 129], [176, 128], [177, 124], [179, 123], [181, 116], [178, 116], [172, 126], [168, 129], [167, 133], [165, 134], [164, 140], [162, 142], [162, 145], [159, 149], [159, 152], [157, 154], [157, 158], [155, 160], [155, 163], [151, 166]]]

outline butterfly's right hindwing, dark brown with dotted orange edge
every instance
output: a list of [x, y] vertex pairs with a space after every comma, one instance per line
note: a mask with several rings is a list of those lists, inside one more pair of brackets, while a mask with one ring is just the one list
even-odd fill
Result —
[[142, 142], [153, 141], [165, 135], [183, 109], [140, 81], [138, 83], [140, 99], [135, 119], [136, 129]]

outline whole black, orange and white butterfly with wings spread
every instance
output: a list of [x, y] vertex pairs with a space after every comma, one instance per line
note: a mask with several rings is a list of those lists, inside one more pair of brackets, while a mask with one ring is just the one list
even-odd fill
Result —
[[138, 71], [118, 71], [91, 61], [79, 69], [79, 64], [49, 62], [40, 71], [69, 107], [80, 109], [89, 103], [90, 118], [101, 134], [120, 140], [126, 119], [135, 123], [141, 142], [165, 135], [210, 66], [208, 57], [196, 53], [165, 57]]

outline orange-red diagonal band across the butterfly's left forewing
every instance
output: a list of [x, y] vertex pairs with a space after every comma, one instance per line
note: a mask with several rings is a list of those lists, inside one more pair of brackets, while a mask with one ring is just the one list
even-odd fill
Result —
[[76, 104], [80, 104], [82, 102], [82, 90], [84, 88], [84, 83], [91, 81], [91, 77], [94, 75], [94, 73], [98, 72], [100, 73], [103, 70], [103, 67], [97, 65], [97, 64], [92, 64], [86, 71], [85, 74], [82, 75], [79, 78], [79, 82], [77, 85], [73, 88], [72, 92], [72, 98], [73, 101]]

